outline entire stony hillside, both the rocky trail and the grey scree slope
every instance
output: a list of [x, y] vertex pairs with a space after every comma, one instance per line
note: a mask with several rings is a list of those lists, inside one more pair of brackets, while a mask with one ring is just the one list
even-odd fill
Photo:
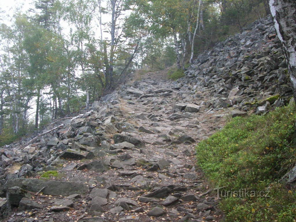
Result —
[[[227, 118], [243, 122], [242, 116], [287, 104], [292, 90], [286, 70], [271, 18], [256, 21], [198, 55], [178, 81], [167, 79], [169, 69], [147, 72], [80, 114], [2, 147], [2, 221], [222, 221], [235, 205], [219, 209], [215, 166], [229, 151], [207, 144]], [[294, 113], [287, 113], [291, 125]], [[245, 125], [247, 132], [257, 127]], [[245, 138], [240, 135], [233, 135], [235, 151]], [[211, 152], [215, 145], [214, 151], [226, 151], [218, 159]], [[261, 163], [256, 161], [250, 165]]]

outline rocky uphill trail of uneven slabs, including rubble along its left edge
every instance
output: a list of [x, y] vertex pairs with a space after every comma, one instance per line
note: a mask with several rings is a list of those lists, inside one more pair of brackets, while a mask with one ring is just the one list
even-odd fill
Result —
[[191, 89], [167, 70], [147, 73], [30, 144], [3, 149], [2, 221], [219, 221], [194, 147], [224, 115], [244, 113], [209, 110]]

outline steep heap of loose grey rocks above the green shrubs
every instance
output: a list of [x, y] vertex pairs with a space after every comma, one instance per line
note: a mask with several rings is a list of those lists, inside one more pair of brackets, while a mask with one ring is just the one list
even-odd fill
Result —
[[[287, 64], [271, 17], [197, 56], [184, 81], [207, 107], [235, 107], [262, 113], [292, 96]], [[269, 106], [270, 104], [270, 106]], [[260, 108], [258, 108], [260, 107]]]

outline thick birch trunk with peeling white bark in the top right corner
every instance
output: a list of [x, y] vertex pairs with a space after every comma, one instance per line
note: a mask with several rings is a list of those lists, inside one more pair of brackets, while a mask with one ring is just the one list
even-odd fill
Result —
[[296, 1], [270, 0], [274, 27], [282, 43], [296, 101]]

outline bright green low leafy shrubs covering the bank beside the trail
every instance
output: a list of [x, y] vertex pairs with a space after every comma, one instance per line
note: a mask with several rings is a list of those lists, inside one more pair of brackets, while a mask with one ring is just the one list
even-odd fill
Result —
[[[220, 190], [226, 221], [296, 221], [295, 189], [280, 182], [296, 163], [295, 112], [287, 106], [233, 118], [196, 147], [197, 164], [212, 186], [226, 186]], [[242, 189], [255, 195], [234, 193]]]

